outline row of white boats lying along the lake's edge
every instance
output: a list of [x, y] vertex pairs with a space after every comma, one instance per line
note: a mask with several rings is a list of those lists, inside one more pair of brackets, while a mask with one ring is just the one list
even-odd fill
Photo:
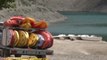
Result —
[[70, 40], [89, 40], [89, 41], [101, 41], [103, 38], [101, 36], [96, 35], [74, 35], [74, 34], [59, 34], [57, 36], [53, 36], [54, 39], [70, 39]]

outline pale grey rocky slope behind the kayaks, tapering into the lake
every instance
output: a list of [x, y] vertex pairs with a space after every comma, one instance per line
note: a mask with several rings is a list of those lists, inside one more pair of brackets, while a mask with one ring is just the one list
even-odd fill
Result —
[[36, 3], [36, 0], [16, 0], [16, 8], [3, 9], [0, 11], [1, 21], [14, 15], [30, 16], [35, 19], [45, 19], [48, 22], [62, 21], [65, 16], [46, 8], [43, 4]]

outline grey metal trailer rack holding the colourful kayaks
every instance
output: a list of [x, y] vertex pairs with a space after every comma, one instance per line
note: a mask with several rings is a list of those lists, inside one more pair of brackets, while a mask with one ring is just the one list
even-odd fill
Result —
[[[25, 30], [24, 28], [18, 28], [18, 27], [2, 27], [1, 30], [3, 29]], [[2, 31], [0, 32], [2, 33]], [[46, 55], [53, 55], [53, 50], [7, 47], [7, 46], [4, 46], [2, 43], [3, 42], [0, 41], [0, 56], [1, 57], [10, 57], [11, 55], [15, 55], [15, 57], [20, 57], [21, 55], [29, 55], [29, 56], [36, 56], [38, 58], [45, 58]]]

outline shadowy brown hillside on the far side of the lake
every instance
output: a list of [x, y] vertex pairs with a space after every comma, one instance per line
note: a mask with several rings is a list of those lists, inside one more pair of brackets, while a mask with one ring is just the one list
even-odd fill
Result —
[[48, 0], [47, 8], [58, 11], [102, 11], [107, 10], [107, 0]]

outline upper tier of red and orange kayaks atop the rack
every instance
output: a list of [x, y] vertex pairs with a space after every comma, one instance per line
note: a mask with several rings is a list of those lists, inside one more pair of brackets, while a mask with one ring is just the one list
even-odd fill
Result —
[[36, 21], [35, 19], [31, 17], [21, 17], [21, 16], [15, 16], [11, 17], [10, 19], [6, 20], [4, 22], [4, 26], [9, 27], [22, 27], [22, 28], [39, 28], [39, 29], [46, 29], [48, 28], [48, 24], [45, 20], [39, 20]]

